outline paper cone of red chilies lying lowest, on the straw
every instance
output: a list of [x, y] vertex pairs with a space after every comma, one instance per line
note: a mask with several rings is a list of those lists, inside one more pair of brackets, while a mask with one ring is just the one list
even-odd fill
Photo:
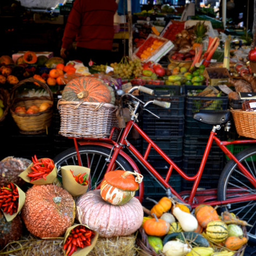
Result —
[[[76, 224], [76, 225], [73, 225], [72, 227], [69, 227], [68, 229], [67, 229], [67, 231], [66, 231], [66, 233], [65, 233], [65, 236], [64, 236], [64, 242], [63, 242], [63, 245], [65, 245], [66, 244], [66, 241], [67, 241], [67, 239], [68, 239], [68, 236], [71, 234], [72, 235], [72, 230], [73, 229], [75, 229], [76, 227], [78, 227], [78, 226], [81, 226], [81, 227], [83, 227], [83, 229], [85, 229], [86, 231], [92, 231], [92, 229], [90, 229], [88, 226], [86, 226], [86, 225], [83, 225], [83, 224]], [[91, 245], [88, 245], [88, 246], [85, 246], [84, 248], [81, 248], [81, 247], [79, 247], [78, 246], [78, 242], [80, 243], [80, 241], [83, 241], [82, 239], [84, 239], [84, 235], [85, 235], [85, 233], [84, 232], [82, 232], [82, 234], [81, 233], [78, 233], [78, 235], [77, 235], [77, 237], [75, 238], [75, 239], [79, 239], [80, 241], [75, 241], [75, 244], [77, 245], [76, 246], [76, 251], [75, 252], [73, 252], [72, 253], [72, 245], [73, 245], [73, 242], [72, 242], [72, 244], [71, 244], [71, 248], [65, 248], [64, 249], [64, 246], [63, 246], [63, 250], [64, 250], [64, 253], [65, 253], [65, 255], [69, 255], [69, 256], [85, 256], [85, 255], [87, 255], [89, 252], [91, 252], [92, 251], [92, 249], [93, 249], [93, 247], [95, 246], [95, 244], [96, 244], [96, 242], [97, 242], [97, 239], [98, 239], [98, 233], [97, 232], [95, 232], [95, 231], [93, 231], [93, 233], [94, 233], [94, 236], [93, 236], [93, 238], [91, 239], [91, 241], [90, 241], [90, 244]], [[79, 234], [81, 234], [81, 236], [79, 235]], [[73, 235], [74, 236], [74, 235]], [[73, 239], [74, 239], [74, 237], [73, 237]], [[68, 253], [67, 253], [68, 252]], [[72, 253], [72, 254], [70, 254], [70, 253]]]

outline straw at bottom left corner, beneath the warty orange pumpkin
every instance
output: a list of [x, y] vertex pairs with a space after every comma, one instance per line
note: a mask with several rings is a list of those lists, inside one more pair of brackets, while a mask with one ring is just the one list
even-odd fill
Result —
[[19, 241], [9, 242], [1, 251], [1, 256], [63, 256], [63, 238], [38, 239], [29, 235]]

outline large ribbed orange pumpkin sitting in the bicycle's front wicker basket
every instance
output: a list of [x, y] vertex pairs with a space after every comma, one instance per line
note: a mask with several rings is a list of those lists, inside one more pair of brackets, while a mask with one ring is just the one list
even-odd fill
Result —
[[67, 83], [62, 92], [62, 99], [110, 103], [111, 92], [104, 81], [80, 76]]

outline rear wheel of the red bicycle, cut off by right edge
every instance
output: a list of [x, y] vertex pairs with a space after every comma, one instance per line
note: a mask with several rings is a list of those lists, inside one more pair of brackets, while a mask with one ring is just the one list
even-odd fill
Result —
[[[256, 148], [247, 148], [236, 155], [251, 175], [256, 178]], [[242, 174], [237, 164], [231, 160], [223, 169], [218, 189], [218, 200], [223, 201], [234, 197], [242, 197], [245, 194], [255, 195], [256, 188], [249, 182], [248, 178]], [[241, 220], [247, 221], [252, 227], [247, 227], [247, 234], [250, 241], [256, 242], [256, 201], [245, 201], [231, 203], [221, 208], [221, 211], [228, 210], [234, 213]]]

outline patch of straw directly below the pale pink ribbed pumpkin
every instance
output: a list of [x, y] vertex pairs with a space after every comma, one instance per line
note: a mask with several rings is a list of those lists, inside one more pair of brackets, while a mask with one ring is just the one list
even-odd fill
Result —
[[102, 238], [99, 236], [95, 247], [88, 256], [136, 256], [136, 236], [114, 236]]

